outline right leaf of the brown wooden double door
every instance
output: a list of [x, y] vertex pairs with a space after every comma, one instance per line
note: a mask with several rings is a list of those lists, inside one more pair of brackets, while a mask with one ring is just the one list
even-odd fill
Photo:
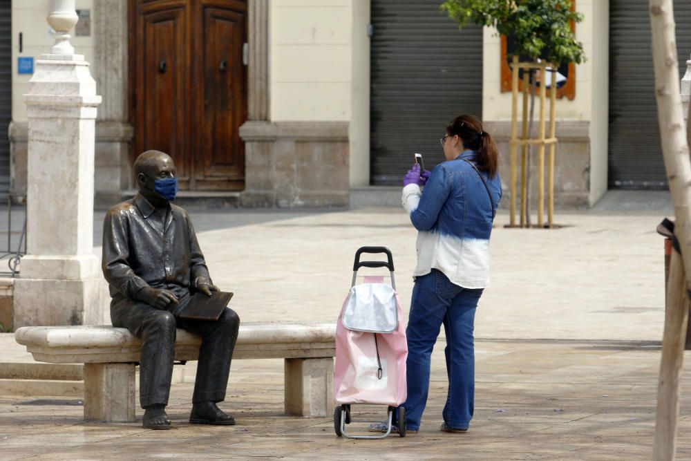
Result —
[[[218, 3], [218, 2], [215, 2]], [[203, 71], [202, 116], [199, 151], [204, 158], [196, 170], [200, 187], [227, 188], [242, 180], [245, 149], [240, 125], [247, 119], [246, 66], [243, 44], [247, 36], [247, 12], [202, 5]]]

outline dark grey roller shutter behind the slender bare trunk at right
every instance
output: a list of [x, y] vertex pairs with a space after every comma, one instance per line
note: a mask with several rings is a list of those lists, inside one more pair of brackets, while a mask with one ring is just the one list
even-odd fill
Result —
[[[674, 1], [679, 79], [691, 53], [691, 2]], [[648, 0], [609, 2], [609, 187], [667, 189], [655, 102]]]

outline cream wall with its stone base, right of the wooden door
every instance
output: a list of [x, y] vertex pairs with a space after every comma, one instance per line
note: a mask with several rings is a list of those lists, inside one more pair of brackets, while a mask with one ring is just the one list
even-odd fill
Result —
[[243, 206], [348, 205], [352, 17], [357, 10], [366, 19], [363, 8], [352, 0], [269, 2], [269, 120], [240, 128]]

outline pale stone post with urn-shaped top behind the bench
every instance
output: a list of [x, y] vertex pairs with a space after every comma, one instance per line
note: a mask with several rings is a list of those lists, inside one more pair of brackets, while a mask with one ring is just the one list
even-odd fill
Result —
[[15, 283], [15, 328], [104, 320], [93, 254], [94, 130], [101, 97], [68, 32], [75, 0], [52, 0], [55, 30], [24, 95], [28, 115], [27, 252]]

